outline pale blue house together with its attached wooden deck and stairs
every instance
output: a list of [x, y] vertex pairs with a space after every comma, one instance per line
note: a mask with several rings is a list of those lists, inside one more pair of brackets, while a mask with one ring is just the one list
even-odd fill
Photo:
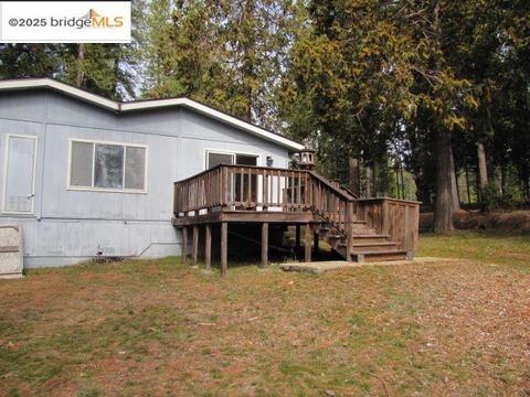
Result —
[[[318, 238], [347, 260], [414, 255], [417, 203], [354, 197], [303, 149], [189, 98], [117, 103], [49, 78], [0, 81], [0, 226], [22, 230], [26, 267], [190, 250], [197, 261], [199, 246], [210, 267], [216, 238], [225, 273], [229, 225], [259, 230], [263, 266], [269, 225], [296, 226], [297, 245], [305, 226], [306, 260]], [[299, 151], [306, 167], [289, 169]]]

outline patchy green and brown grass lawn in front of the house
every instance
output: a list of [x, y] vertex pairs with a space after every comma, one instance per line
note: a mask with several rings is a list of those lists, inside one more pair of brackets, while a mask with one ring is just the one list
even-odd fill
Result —
[[528, 396], [530, 236], [321, 276], [176, 258], [0, 281], [1, 396]]

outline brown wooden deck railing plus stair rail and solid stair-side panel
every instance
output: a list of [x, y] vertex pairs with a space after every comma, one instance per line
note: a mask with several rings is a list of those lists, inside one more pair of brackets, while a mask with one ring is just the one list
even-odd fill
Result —
[[364, 221], [403, 249], [417, 249], [417, 202], [358, 200], [312, 171], [221, 164], [174, 183], [176, 217], [220, 208], [312, 212], [348, 239], [353, 221]]

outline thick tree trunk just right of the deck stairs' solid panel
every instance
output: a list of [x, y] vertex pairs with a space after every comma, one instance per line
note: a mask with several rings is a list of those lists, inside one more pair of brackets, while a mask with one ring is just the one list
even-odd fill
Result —
[[434, 230], [452, 232], [454, 193], [452, 178], [455, 174], [451, 161], [451, 136], [436, 129], [436, 202], [434, 204]]

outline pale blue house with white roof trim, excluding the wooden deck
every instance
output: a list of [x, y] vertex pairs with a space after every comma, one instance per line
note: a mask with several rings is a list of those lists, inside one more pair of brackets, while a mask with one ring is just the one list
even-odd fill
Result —
[[0, 81], [0, 223], [21, 226], [26, 267], [180, 255], [174, 181], [220, 162], [287, 168], [301, 148], [188, 98]]

